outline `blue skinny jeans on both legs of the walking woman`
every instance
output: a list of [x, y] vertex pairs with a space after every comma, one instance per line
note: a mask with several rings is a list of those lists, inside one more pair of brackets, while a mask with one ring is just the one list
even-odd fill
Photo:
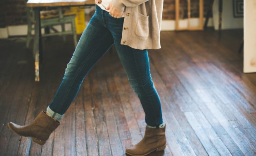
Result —
[[60, 115], [66, 112], [85, 76], [114, 44], [130, 85], [140, 99], [146, 124], [156, 126], [163, 123], [161, 102], [151, 78], [147, 49], [139, 50], [120, 44], [123, 21], [124, 17], [112, 17], [96, 5], [95, 14], [83, 31], [49, 105], [54, 112]]

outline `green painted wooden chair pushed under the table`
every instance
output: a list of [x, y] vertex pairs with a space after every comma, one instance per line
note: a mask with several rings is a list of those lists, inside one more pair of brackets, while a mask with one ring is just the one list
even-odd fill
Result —
[[[31, 32], [34, 28], [32, 28], [32, 25], [34, 24], [34, 11], [32, 8], [27, 7], [27, 17], [28, 17], [28, 33], [26, 38], [26, 47], [29, 47], [29, 43], [31, 40]], [[64, 11], [62, 7], [58, 7], [55, 10], [46, 10], [46, 11], [40, 11], [40, 22], [41, 22], [41, 28], [50, 28], [50, 30], [53, 30], [52, 33], [45, 33], [42, 34], [42, 37], [47, 36], [53, 36], [53, 35], [63, 35], [64, 41], [66, 41], [67, 34], [73, 34], [73, 40], [74, 40], [74, 47], [76, 48], [77, 45], [77, 36], [76, 36], [76, 25], [75, 25], [75, 17], [76, 14], [74, 14], [71, 11]], [[65, 31], [65, 24], [71, 23], [71, 30]], [[62, 31], [59, 32], [56, 30], [53, 26], [55, 25], [61, 25]]]

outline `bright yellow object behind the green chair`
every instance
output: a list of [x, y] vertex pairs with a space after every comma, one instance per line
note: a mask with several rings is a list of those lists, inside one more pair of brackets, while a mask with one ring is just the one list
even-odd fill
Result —
[[83, 7], [71, 7], [71, 11], [76, 14], [76, 34], [82, 34], [85, 29], [85, 13]]

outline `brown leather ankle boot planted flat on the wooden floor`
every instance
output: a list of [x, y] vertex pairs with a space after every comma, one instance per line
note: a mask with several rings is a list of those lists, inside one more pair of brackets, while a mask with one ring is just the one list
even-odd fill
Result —
[[131, 156], [145, 156], [153, 151], [162, 151], [166, 147], [164, 128], [149, 128], [146, 126], [145, 135], [136, 145], [126, 149]]

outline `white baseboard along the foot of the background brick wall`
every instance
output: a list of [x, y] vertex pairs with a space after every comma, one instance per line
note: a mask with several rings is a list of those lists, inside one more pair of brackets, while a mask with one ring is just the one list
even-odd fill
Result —
[[[199, 18], [191, 18], [190, 25], [197, 26], [199, 23]], [[180, 28], [187, 26], [187, 19], [180, 20]], [[208, 26], [213, 26], [212, 18], [209, 18]], [[55, 29], [61, 31], [61, 26], [54, 26]], [[13, 25], [7, 26], [6, 28], [0, 28], [0, 39], [8, 38], [12, 36], [26, 36], [28, 25]], [[71, 24], [65, 24], [65, 30], [71, 30]], [[175, 20], [162, 20], [161, 31], [172, 31], [175, 30]], [[44, 34], [44, 29], [41, 30]], [[51, 30], [52, 31], [52, 30]], [[32, 31], [34, 34], [34, 31]]]

